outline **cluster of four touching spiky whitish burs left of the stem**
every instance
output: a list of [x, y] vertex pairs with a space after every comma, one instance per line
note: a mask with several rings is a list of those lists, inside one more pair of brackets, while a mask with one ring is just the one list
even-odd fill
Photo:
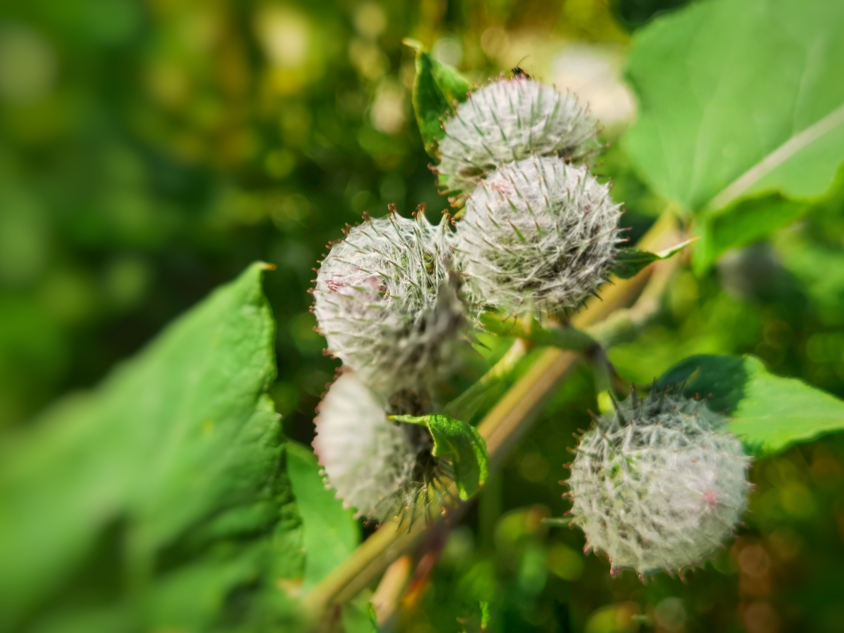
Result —
[[574, 96], [502, 78], [443, 128], [436, 171], [463, 194], [463, 219], [434, 226], [424, 208], [405, 219], [394, 206], [365, 217], [332, 246], [314, 289], [317, 326], [345, 371], [320, 405], [314, 446], [327, 484], [379, 521], [415, 510], [448, 473], [427, 430], [387, 414], [436, 408], [436, 382], [481, 309], [574, 309], [606, 279], [620, 241], [608, 187], [575, 164], [597, 147], [597, 124]]

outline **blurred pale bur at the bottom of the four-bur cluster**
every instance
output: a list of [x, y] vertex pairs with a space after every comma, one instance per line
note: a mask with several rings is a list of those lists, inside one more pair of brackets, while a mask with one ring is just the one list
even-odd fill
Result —
[[430, 433], [387, 419], [385, 405], [354, 372], [328, 389], [314, 420], [314, 452], [326, 483], [345, 507], [377, 522], [414, 506], [431, 479], [436, 458]]

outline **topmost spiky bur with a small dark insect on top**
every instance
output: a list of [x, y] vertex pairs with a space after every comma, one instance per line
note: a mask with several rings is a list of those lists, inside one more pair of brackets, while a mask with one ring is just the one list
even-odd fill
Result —
[[443, 129], [436, 172], [452, 192], [471, 192], [503, 163], [532, 155], [578, 159], [598, 144], [597, 123], [574, 95], [523, 77], [474, 91]]

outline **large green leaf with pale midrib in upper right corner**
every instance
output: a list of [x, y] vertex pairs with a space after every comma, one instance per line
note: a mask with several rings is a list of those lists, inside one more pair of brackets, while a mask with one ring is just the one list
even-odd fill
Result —
[[829, 189], [844, 161], [841, 33], [837, 0], [710, 0], [636, 34], [625, 146], [657, 192], [702, 212], [697, 268]]

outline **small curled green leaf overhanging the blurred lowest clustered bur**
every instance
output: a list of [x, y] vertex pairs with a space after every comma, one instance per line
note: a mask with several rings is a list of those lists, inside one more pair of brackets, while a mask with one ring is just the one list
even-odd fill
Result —
[[477, 429], [447, 415], [391, 415], [390, 419], [422, 425], [434, 438], [434, 457], [443, 457], [452, 463], [454, 483], [463, 500], [474, 495], [490, 474], [490, 457], [486, 442]]

